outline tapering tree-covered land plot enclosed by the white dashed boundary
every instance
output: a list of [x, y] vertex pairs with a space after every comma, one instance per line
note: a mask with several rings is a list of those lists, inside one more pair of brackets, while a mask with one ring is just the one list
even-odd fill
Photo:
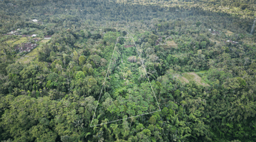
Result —
[[[122, 38], [122, 40], [124, 44], [117, 44], [114, 47], [112, 54], [114, 58], [109, 60], [109, 68], [106, 72], [110, 72], [110, 77], [105, 75], [105, 82], [90, 126], [161, 111], [153, 87], [146, 76], [146, 69], [138, 63], [139, 54], [134, 40], [132, 38]], [[124, 48], [125, 45], [134, 46]], [[118, 58], [122, 59], [122, 62], [117, 61]], [[109, 92], [105, 84], [110, 84], [113, 91]], [[100, 111], [105, 111], [106, 115], [102, 116]]]

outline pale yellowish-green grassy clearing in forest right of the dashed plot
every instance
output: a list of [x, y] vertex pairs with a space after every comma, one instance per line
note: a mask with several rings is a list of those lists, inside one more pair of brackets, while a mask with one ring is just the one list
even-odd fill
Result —
[[204, 82], [201, 79], [201, 77], [196, 75], [195, 72], [186, 72], [186, 73], [181, 74], [181, 76], [175, 75], [175, 77], [178, 78], [178, 80], [180, 80], [181, 82], [189, 83], [190, 81], [195, 81], [196, 84], [201, 84], [203, 86], [210, 86], [209, 84]]

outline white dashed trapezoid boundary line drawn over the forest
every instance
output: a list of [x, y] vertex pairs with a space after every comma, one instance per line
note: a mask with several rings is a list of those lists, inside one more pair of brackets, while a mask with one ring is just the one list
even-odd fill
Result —
[[[132, 40], [134, 41], [134, 38], [133, 38], [133, 37], [117, 37], [117, 41], [118, 41], [119, 38], [132, 38]], [[140, 56], [140, 54], [139, 54], [139, 50], [138, 50], [138, 48], [137, 48], [137, 45], [136, 45], [135, 41], [134, 41], [134, 45], [135, 45], [135, 47], [136, 47], [137, 54], [139, 55], [139, 58], [140, 58], [140, 60], [141, 60], [141, 62], [142, 62], [142, 66], [143, 66], [143, 68], [144, 68], [144, 70], [145, 70], [145, 72], [146, 72], [146, 68], [144, 67], [144, 63], [143, 63], [142, 58], [141, 58], [141, 56]], [[116, 42], [115, 45], [114, 45], [114, 51], [115, 51], [116, 47], [117, 47], [117, 42]], [[111, 64], [112, 59], [113, 59], [113, 56], [114, 56], [114, 51], [113, 51], [113, 53], [112, 53], [112, 58], [111, 58], [111, 60], [110, 60], [110, 64]], [[110, 65], [107, 67], [107, 72], [109, 72], [109, 70], [110, 70]], [[154, 93], [154, 89], [153, 89], [153, 87], [152, 87], [152, 85], [151, 85], [151, 82], [150, 82], [150, 80], [149, 80], [149, 76], [147, 75], [147, 73], [146, 73], [146, 77], [147, 77], [147, 79], [148, 79], [148, 81], [149, 81], [149, 84], [150, 84], [150, 86], [151, 86], [151, 90], [152, 90], [152, 92], [153, 92], [153, 94], [154, 94], [154, 97], [155, 97], [155, 99], [156, 99], [156, 94]], [[104, 85], [105, 85], [106, 79], [107, 79], [107, 73], [106, 73], [106, 76], [105, 76], [105, 80], [104, 80], [104, 82], [103, 82], [103, 84], [102, 84], [102, 89], [103, 89], [103, 87], [104, 87]], [[101, 89], [101, 91], [100, 91], [100, 97], [101, 97], [101, 94], [102, 94], [102, 89]], [[98, 101], [97, 101], [97, 105], [96, 105], [96, 107], [95, 107], [95, 111], [94, 111], [93, 116], [92, 116], [92, 121], [93, 121], [93, 119], [95, 118], [95, 112], [96, 112], [97, 106], [98, 106], [98, 104], [99, 104], [100, 97], [99, 97], [99, 99], [98, 99]], [[158, 107], [159, 107], [159, 110], [158, 110], [158, 111], [161, 111], [161, 108], [160, 108], [160, 106], [159, 106], [159, 102], [157, 101], [157, 99], [156, 99], [156, 103], [157, 103], [157, 105], [158, 105]], [[154, 112], [158, 112], [158, 111], [152, 111], [152, 112], [148, 112], [148, 113], [146, 113], [146, 114], [153, 114]], [[146, 115], [146, 114], [139, 114], [139, 115], [137, 115], [137, 116], [143, 116], [143, 115]], [[106, 122], [106, 123], [104, 123], [104, 124], [110, 124], [110, 123], [112, 123], [112, 122], [121, 121], [121, 120], [125, 120], [125, 119], [132, 119], [132, 118], [137, 117], [137, 116], [130, 116], [130, 117], [127, 117], [127, 118], [124, 118], [124, 119], [117, 119], [117, 120], [115, 120], [115, 121], [109, 121], [109, 122]], [[104, 125], [104, 124], [97, 124], [97, 125], [92, 126], [92, 121], [91, 121], [91, 123], [90, 123], [90, 127]]]

